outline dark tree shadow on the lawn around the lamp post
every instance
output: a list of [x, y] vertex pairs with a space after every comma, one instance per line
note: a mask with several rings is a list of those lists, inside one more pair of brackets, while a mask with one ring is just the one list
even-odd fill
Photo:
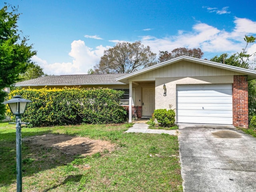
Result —
[[[61, 136], [59, 140], [48, 145], [40, 145], [31, 143], [31, 140], [27, 140], [26, 136], [34, 135], [36, 137], [44, 136], [47, 143], [47, 134], [51, 131], [44, 130], [38, 132], [22, 132], [22, 177], [31, 176], [32, 174], [56, 168], [57, 166], [63, 166], [72, 162], [75, 158], [82, 158], [80, 154], [64, 153], [65, 147], [57, 146], [54, 144], [67, 142], [68, 140], [75, 138], [76, 136], [66, 136], [64, 134], [58, 134]], [[27, 141], [23, 141], [27, 140]], [[86, 150], [90, 152], [90, 143], [73, 144], [73, 147], [78, 145], [85, 145]], [[68, 147], [68, 146], [67, 146]], [[64, 149], [64, 150], [63, 150]], [[0, 187], [8, 186], [16, 182], [16, 133], [0, 133]], [[69, 176], [65, 181], [70, 179], [78, 180], [78, 176]], [[63, 183], [65, 183], [65, 181]], [[56, 186], [58, 187], [58, 186]]]

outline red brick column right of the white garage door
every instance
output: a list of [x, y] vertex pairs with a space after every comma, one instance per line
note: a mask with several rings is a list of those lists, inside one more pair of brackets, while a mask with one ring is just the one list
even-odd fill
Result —
[[233, 125], [248, 128], [248, 77], [234, 75]]

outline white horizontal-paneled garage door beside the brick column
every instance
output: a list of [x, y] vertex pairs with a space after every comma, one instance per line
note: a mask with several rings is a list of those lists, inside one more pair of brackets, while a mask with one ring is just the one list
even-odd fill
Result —
[[178, 123], [232, 124], [232, 84], [178, 85]]

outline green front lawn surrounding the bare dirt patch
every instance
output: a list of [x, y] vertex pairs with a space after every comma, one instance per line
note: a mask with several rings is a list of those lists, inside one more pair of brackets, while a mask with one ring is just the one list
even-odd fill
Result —
[[[22, 142], [23, 192], [182, 192], [178, 138], [124, 133], [132, 124], [22, 127], [22, 138], [46, 133], [108, 140], [114, 151], [68, 156]], [[15, 124], [0, 123], [0, 191], [16, 190]]]

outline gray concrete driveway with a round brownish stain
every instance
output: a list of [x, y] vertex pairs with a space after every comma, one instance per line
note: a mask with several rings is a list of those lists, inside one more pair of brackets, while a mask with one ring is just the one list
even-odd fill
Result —
[[255, 192], [256, 138], [228, 126], [180, 125], [184, 192]]

